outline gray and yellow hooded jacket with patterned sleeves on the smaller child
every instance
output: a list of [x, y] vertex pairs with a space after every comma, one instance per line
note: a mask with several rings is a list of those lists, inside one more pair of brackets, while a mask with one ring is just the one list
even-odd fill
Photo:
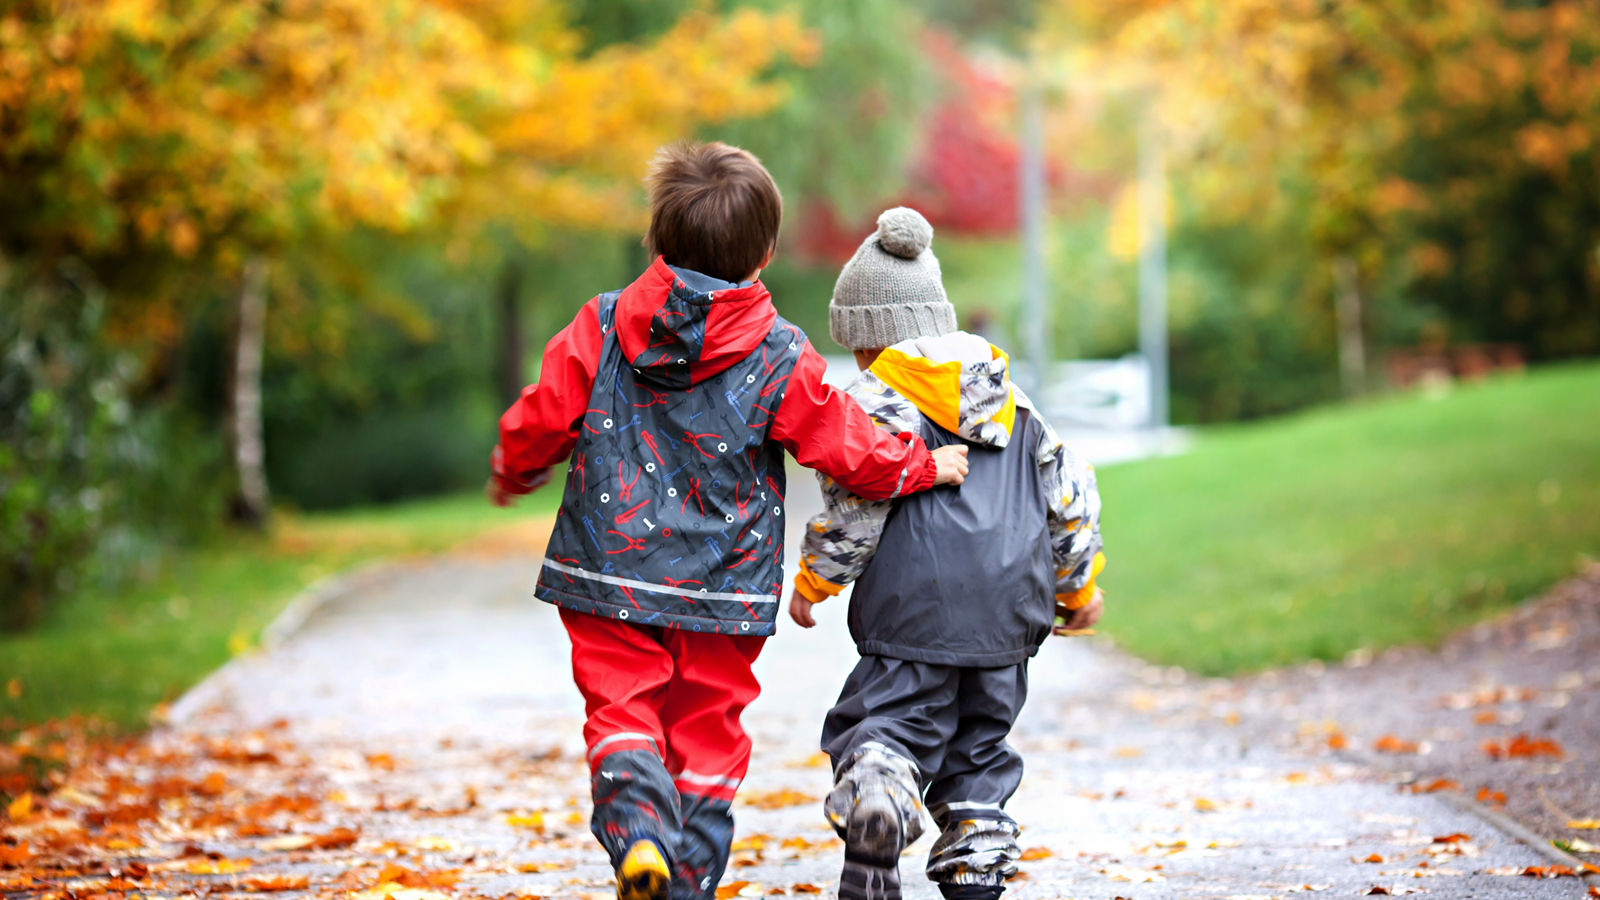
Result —
[[894, 344], [848, 394], [878, 428], [966, 442], [971, 471], [958, 488], [890, 501], [819, 476], [827, 508], [806, 528], [795, 589], [821, 602], [854, 581], [850, 633], [864, 655], [1006, 666], [1037, 653], [1106, 564], [1093, 468], [976, 335]]

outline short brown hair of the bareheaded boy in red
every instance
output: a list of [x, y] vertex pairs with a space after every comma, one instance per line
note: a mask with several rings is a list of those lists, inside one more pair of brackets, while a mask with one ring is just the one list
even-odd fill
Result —
[[784, 200], [762, 160], [723, 143], [682, 141], [656, 151], [645, 175], [645, 247], [674, 266], [738, 282], [778, 243]]

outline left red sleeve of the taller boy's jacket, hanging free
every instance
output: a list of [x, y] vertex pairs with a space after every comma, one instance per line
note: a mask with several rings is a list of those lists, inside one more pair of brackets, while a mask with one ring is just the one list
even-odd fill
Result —
[[528, 493], [546, 469], [571, 456], [589, 408], [602, 340], [597, 298], [544, 346], [539, 381], [523, 388], [501, 416], [490, 468], [502, 488]]

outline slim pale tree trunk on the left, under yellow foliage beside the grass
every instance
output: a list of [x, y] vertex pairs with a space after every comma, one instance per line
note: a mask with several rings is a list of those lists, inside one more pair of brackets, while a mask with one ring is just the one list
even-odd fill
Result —
[[272, 511], [267, 493], [266, 448], [261, 440], [261, 354], [267, 322], [267, 263], [251, 256], [238, 287], [238, 335], [234, 346], [234, 469], [238, 495], [234, 517], [262, 527]]

